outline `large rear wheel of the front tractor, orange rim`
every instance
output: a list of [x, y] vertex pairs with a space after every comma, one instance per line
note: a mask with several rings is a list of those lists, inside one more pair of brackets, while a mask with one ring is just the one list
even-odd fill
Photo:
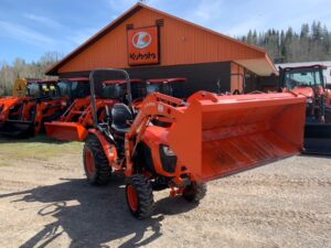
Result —
[[90, 184], [102, 185], [108, 183], [111, 168], [96, 136], [86, 138], [83, 151], [83, 163], [86, 177]]

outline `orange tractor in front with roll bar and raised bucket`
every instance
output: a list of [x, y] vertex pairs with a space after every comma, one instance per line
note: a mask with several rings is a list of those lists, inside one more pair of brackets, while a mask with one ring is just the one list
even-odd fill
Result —
[[[99, 69], [90, 73], [94, 120]], [[130, 95], [130, 90], [128, 90]], [[130, 99], [130, 97], [128, 97]], [[199, 202], [205, 182], [297, 154], [303, 145], [306, 98], [292, 93], [218, 96], [197, 91], [186, 101], [148, 95], [138, 112], [115, 104], [104, 121], [94, 121], [85, 140], [87, 180], [105, 184], [113, 173], [126, 176], [126, 198], [137, 218], [153, 213], [153, 191], [170, 188]], [[169, 122], [153, 125], [154, 119]]]

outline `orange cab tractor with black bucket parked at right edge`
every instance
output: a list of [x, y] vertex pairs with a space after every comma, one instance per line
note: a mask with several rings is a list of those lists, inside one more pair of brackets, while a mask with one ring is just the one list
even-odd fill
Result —
[[323, 65], [280, 68], [282, 91], [307, 98], [305, 152], [331, 154], [331, 89], [327, 88]]

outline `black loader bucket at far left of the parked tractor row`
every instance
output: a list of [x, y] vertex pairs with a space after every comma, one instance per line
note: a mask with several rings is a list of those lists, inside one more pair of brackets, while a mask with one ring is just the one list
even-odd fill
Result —
[[0, 134], [13, 138], [29, 138], [34, 136], [34, 122], [7, 120], [0, 127]]

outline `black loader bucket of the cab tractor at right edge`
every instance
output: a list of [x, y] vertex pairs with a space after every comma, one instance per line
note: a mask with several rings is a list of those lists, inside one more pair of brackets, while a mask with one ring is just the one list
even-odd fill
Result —
[[307, 123], [305, 153], [331, 155], [331, 123]]

